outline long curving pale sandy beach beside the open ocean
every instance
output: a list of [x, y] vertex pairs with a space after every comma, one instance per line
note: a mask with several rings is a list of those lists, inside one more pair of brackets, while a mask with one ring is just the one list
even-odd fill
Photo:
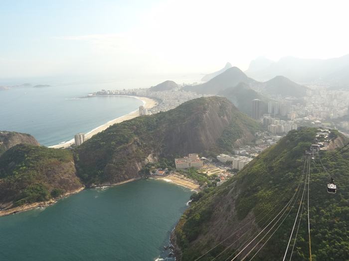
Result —
[[[140, 99], [143, 101], [143, 106], [146, 108], [146, 109], [151, 109], [153, 107], [155, 107], [158, 103], [156, 100], [154, 99], [151, 99], [151, 98], [148, 98], [148, 97], [140, 97], [140, 96], [128, 96], [128, 95], [118, 95], [118, 96], [126, 96], [126, 97], [132, 97], [132, 98], [136, 98], [136, 99]], [[120, 123], [120, 122], [123, 122], [124, 120], [130, 120], [130, 119], [133, 119], [137, 116], [139, 116], [139, 110], [135, 110], [135, 111], [132, 111], [124, 116], [121, 116], [121, 117], [118, 117], [114, 120], [111, 120], [111, 121], [108, 121], [107, 123], [85, 133], [85, 139], [89, 139], [91, 138], [93, 135], [107, 129], [110, 125], [113, 125], [115, 123]], [[68, 148], [70, 145], [74, 144], [74, 138], [69, 140], [69, 141], [66, 141], [64, 143], [60, 143], [60, 144], [57, 144], [57, 145], [52, 145], [52, 146], [49, 146], [49, 148], [54, 148], [54, 149], [59, 149], [59, 148]]]

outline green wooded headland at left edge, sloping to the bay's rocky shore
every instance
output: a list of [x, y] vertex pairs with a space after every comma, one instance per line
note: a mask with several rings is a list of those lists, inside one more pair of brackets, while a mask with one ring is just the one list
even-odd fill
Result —
[[67, 150], [18, 144], [0, 156], [0, 215], [83, 187]]

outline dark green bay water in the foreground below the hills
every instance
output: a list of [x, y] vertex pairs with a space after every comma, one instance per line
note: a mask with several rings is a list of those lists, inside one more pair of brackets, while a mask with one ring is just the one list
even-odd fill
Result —
[[0, 260], [155, 260], [191, 193], [162, 180], [138, 180], [0, 217]]

